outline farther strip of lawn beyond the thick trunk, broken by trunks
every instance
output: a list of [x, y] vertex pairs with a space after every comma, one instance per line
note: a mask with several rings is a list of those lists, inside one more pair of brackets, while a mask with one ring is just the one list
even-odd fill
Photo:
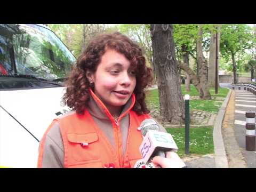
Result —
[[[181, 85], [181, 91], [182, 95], [189, 94], [190, 96], [199, 96], [197, 93], [197, 90], [194, 85], [191, 85], [191, 91], [186, 92], [185, 91], [185, 85]], [[203, 110], [210, 113], [217, 114], [221, 105], [221, 100], [215, 100], [215, 97], [220, 97], [225, 99], [226, 95], [228, 94], [227, 88], [219, 88], [218, 94], [215, 94], [214, 87], [210, 88], [210, 93], [212, 95], [211, 100], [190, 100], [190, 111], [193, 111], [193, 109], [196, 110]], [[146, 102], [149, 106], [149, 108], [159, 108], [159, 98], [158, 98], [158, 90], [150, 90], [146, 93]]]

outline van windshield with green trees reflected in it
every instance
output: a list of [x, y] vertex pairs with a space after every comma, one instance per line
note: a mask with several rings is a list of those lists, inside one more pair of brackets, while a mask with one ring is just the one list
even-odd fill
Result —
[[67, 77], [75, 57], [50, 30], [39, 25], [0, 24], [0, 76]]

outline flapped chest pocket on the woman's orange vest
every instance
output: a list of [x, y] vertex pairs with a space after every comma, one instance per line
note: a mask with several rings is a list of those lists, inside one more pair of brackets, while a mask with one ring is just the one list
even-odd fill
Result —
[[[70, 151], [69, 155], [72, 156], [74, 164], [76, 164], [75, 162], [80, 162], [78, 164], [91, 164], [92, 166], [99, 165], [100, 148], [98, 146], [98, 143], [96, 142], [99, 140], [97, 133], [87, 133], [87, 134], [72, 133], [72, 134], [67, 134], [67, 138], [69, 141], [68, 143], [69, 151]], [[87, 145], [84, 145], [84, 143], [87, 143]], [[94, 161], [94, 162], [91, 162], [91, 161]]]

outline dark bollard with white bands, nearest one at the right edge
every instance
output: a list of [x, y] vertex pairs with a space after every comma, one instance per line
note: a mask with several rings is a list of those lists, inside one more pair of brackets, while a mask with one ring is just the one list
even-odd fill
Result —
[[246, 150], [247, 151], [255, 151], [255, 111], [247, 111], [245, 113], [246, 117], [246, 136], [245, 136], [245, 143], [246, 143]]

